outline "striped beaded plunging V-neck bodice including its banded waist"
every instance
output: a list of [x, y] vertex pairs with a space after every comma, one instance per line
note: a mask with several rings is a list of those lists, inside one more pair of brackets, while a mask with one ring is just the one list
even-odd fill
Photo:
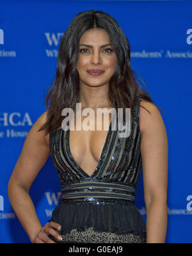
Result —
[[[61, 199], [116, 198], [134, 201], [136, 186], [141, 175], [141, 132], [139, 106], [135, 107], [135, 118], [131, 116], [131, 133], [119, 136], [109, 125], [106, 141], [99, 163], [92, 175], [88, 175], [76, 163], [70, 152], [69, 132], [57, 129], [50, 133], [50, 155], [61, 182]], [[111, 185], [111, 186], [110, 186]]]

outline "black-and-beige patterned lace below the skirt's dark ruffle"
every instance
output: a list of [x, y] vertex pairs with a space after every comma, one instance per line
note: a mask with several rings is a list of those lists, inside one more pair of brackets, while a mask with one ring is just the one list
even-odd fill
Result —
[[142, 234], [115, 234], [112, 232], [98, 232], [93, 227], [78, 231], [77, 228], [70, 230], [68, 234], [58, 233], [63, 238], [58, 241], [53, 236], [49, 236], [56, 243], [146, 243], [146, 232]]

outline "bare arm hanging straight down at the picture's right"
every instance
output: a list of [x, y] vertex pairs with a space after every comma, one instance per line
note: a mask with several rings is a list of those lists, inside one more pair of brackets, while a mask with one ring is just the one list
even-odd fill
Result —
[[147, 243], [164, 243], [168, 218], [168, 139], [159, 109], [143, 100], [140, 104], [140, 131]]

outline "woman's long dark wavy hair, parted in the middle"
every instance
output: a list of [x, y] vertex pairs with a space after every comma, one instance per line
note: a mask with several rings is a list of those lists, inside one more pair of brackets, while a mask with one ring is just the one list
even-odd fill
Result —
[[116, 111], [118, 108], [131, 108], [131, 115], [134, 118], [132, 109], [139, 104], [138, 100], [153, 103], [139, 81], [145, 83], [131, 68], [130, 44], [122, 28], [108, 13], [88, 10], [77, 13], [63, 33], [58, 51], [56, 76], [45, 97], [47, 121], [38, 131], [45, 129], [47, 134], [61, 127], [64, 118], [61, 111], [64, 108], [76, 108], [76, 103], [79, 102], [79, 73], [76, 69], [79, 41], [83, 33], [93, 28], [107, 31], [117, 56], [116, 70], [108, 83], [108, 102], [111, 108], [115, 108]]

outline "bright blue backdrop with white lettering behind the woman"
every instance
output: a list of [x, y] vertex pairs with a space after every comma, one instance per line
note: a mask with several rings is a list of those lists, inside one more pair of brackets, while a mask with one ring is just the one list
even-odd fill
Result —
[[[163, 109], [168, 134], [166, 243], [191, 243], [191, 1], [7, 1], [0, 3], [0, 243], [30, 243], [8, 200], [7, 184], [32, 125], [44, 113], [61, 36], [77, 13], [112, 15], [131, 43], [132, 68]], [[42, 225], [60, 202], [47, 160], [29, 191]], [[143, 175], [136, 206], [146, 221]]]

